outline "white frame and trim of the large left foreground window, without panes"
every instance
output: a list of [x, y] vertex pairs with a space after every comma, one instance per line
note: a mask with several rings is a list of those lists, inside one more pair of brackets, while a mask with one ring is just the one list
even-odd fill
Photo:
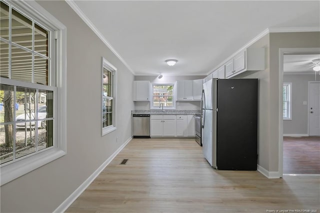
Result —
[[[52, 58], [49, 79], [54, 85], [51, 89], [54, 91], [53, 114], [55, 121], [53, 126], [53, 146], [1, 164], [1, 185], [66, 154], [66, 27], [34, 0], [2, 1], [50, 29], [52, 36], [49, 49]], [[6, 78], [1, 78], [1, 83], [42, 88], [41, 85]], [[43, 87], [43, 89], [47, 88]]]

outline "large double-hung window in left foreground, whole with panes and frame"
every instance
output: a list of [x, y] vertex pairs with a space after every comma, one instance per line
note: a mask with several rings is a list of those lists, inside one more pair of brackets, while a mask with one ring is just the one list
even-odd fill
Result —
[[0, 1], [1, 185], [65, 154], [65, 37], [36, 2]]

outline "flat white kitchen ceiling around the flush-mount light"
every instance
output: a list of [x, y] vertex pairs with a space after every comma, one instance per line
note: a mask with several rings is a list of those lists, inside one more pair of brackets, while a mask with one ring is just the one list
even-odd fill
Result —
[[207, 74], [266, 28], [320, 28], [318, 0], [73, 3], [136, 75]]

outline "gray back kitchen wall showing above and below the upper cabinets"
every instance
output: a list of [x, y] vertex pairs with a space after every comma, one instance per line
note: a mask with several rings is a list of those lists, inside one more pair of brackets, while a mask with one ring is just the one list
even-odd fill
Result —
[[[151, 83], [174, 83], [176, 80], [202, 79], [205, 75], [165, 75], [158, 78], [157, 75], [136, 75], [134, 80], [149, 80]], [[176, 109], [200, 109], [200, 101], [176, 101]], [[150, 109], [149, 101], [134, 101], [134, 109]]]

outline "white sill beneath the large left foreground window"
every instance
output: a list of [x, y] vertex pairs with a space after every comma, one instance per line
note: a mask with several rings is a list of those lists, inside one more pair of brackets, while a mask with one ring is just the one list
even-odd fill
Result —
[[63, 155], [65, 151], [50, 148], [45, 151], [38, 152], [32, 156], [22, 157], [15, 162], [4, 164], [1, 166], [1, 185], [8, 183], [46, 163], [49, 163]]

